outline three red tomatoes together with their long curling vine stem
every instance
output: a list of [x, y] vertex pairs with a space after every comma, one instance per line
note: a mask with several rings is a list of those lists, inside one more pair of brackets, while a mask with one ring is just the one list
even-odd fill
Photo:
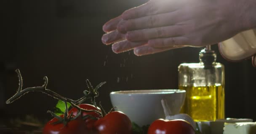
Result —
[[[131, 134], [131, 121], [128, 116], [118, 111], [102, 116], [101, 110], [96, 106], [95, 98], [99, 96], [98, 89], [106, 82], [101, 82], [93, 88], [91, 82], [86, 80], [88, 90], [83, 91], [82, 98], [72, 100], [47, 89], [48, 78], [46, 76], [43, 78], [45, 83], [42, 86], [22, 89], [21, 73], [19, 69], [16, 72], [19, 78], [19, 88], [16, 94], [6, 101], [7, 104], [32, 91], [45, 93], [65, 104], [64, 114], [61, 116], [49, 111], [55, 118], [45, 124], [43, 134]], [[95, 106], [81, 104], [88, 99], [91, 99]], [[68, 103], [74, 107], [70, 111], [68, 111]]]

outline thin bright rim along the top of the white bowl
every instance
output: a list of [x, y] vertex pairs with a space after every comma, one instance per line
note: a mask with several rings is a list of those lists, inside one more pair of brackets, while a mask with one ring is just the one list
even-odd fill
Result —
[[174, 93], [186, 93], [186, 90], [182, 90], [182, 89], [120, 90], [120, 91], [111, 92], [110, 95], [144, 95], [144, 94], [157, 95], [157, 94], [174, 94]]

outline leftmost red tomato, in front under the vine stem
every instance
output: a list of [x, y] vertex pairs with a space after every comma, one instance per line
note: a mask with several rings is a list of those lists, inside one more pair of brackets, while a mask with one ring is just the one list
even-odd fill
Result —
[[[63, 118], [64, 115], [61, 115]], [[75, 120], [69, 121], [66, 126], [63, 123], [53, 124], [58, 119], [53, 118], [43, 128], [43, 134], [90, 134], [86, 130], [84, 121], [81, 117]]]

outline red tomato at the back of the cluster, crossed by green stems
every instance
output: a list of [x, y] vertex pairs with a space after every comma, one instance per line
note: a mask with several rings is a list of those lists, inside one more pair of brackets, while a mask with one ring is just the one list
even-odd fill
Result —
[[[97, 111], [100, 111], [99, 108], [96, 108], [95, 106], [93, 105], [90, 105], [90, 104], [80, 104], [79, 105], [80, 108], [83, 108], [83, 109], [86, 109], [86, 110], [97, 110]], [[77, 108], [71, 108], [69, 110], [69, 114], [73, 111], [73, 115], [77, 115], [77, 113], [79, 112], [77, 110]], [[95, 118], [101, 118], [101, 115], [99, 113], [96, 113], [96, 112], [83, 112], [83, 116], [86, 116], [86, 115], [91, 115]], [[88, 129], [93, 129], [93, 124], [96, 120], [94, 119], [91, 119], [90, 117], [88, 117], [87, 119], [85, 119], [85, 126], [88, 128]]]

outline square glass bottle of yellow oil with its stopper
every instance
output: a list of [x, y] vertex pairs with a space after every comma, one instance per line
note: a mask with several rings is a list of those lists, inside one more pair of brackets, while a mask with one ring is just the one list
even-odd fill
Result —
[[224, 119], [224, 65], [216, 63], [216, 53], [207, 46], [199, 54], [200, 63], [183, 63], [179, 70], [179, 89], [186, 90], [181, 113], [195, 121]]

